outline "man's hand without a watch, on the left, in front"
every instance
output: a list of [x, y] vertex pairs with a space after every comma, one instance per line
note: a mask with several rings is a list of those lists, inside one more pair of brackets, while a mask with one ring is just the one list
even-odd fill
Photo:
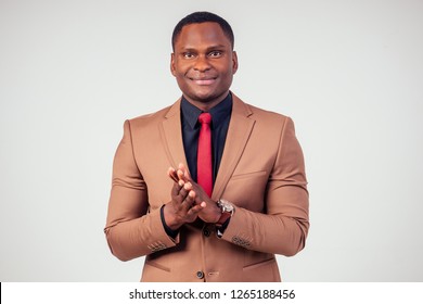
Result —
[[171, 201], [163, 210], [166, 225], [178, 230], [183, 224], [194, 221], [204, 206], [205, 203], [195, 204], [191, 182], [178, 180], [171, 189]]

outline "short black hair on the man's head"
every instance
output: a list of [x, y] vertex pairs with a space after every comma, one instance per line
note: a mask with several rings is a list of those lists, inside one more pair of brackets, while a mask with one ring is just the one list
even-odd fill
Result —
[[209, 12], [195, 12], [192, 14], [189, 14], [184, 18], [182, 18], [174, 29], [174, 34], [171, 35], [171, 48], [175, 51], [175, 42], [178, 39], [179, 34], [181, 34], [182, 28], [185, 25], [194, 24], [194, 23], [205, 23], [205, 22], [215, 22], [220, 25], [221, 29], [225, 33], [225, 36], [228, 37], [229, 41], [231, 42], [231, 47], [233, 50], [233, 47], [235, 45], [235, 38], [233, 36], [232, 27], [229, 25], [229, 23], [222, 18], [221, 16], [218, 16], [214, 13]]

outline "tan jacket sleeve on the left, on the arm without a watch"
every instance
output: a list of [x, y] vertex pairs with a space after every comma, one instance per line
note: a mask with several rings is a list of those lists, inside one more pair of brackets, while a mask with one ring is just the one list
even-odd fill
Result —
[[112, 191], [104, 232], [112, 253], [121, 261], [151, 254], [179, 242], [165, 231], [159, 208], [150, 210], [148, 188], [137, 165], [130, 121], [113, 163]]

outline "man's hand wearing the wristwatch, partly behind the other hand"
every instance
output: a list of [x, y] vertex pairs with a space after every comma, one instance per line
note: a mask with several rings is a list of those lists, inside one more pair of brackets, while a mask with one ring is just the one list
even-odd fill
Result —
[[190, 185], [192, 192], [194, 193], [193, 200], [195, 206], [202, 206], [197, 216], [205, 223], [217, 223], [221, 216], [221, 211], [217, 206], [216, 202], [213, 201], [203, 188], [192, 180], [188, 169], [183, 164], [179, 164], [178, 169], [169, 168], [168, 175], [175, 181]]

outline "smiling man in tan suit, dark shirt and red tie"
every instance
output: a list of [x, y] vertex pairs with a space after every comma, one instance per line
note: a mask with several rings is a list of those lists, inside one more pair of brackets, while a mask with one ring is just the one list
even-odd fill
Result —
[[233, 45], [215, 14], [181, 20], [170, 68], [182, 98], [125, 122], [105, 233], [119, 259], [146, 255], [142, 281], [280, 281], [274, 254], [305, 245], [293, 122], [230, 91]]

